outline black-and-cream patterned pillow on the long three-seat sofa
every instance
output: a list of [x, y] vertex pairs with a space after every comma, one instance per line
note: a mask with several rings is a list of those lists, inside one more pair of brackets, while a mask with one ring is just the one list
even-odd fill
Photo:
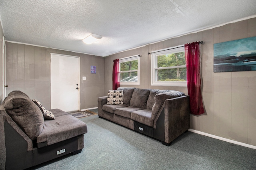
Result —
[[123, 105], [123, 90], [108, 90], [107, 104]]

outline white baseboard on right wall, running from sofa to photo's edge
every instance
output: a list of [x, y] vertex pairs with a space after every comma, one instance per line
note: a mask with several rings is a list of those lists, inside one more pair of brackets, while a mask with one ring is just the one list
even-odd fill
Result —
[[246, 143], [242, 143], [242, 142], [238, 142], [238, 141], [233, 141], [231, 139], [226, 139], [224, 137], [219, 137], [219, 136], [211, 135], [211, 134], [208, 134], [208, 133], [205, 133], [205, 132], [196, 131], [194, 129], [188, 129], [188, 131], [194, 132], [194, 133], [198, 133], [200, 135], [208, 136], [208, 137], [211, 137], [211, 138], [214, 138], [214, 139], [219, 139], [221, 141], [226, 141], [226, 142], [229, 142], [229, 143], [234, 143], [236, 145], [240, 145], [240, 146], [243, 146], [243, 147], [256, 149], [256, 146], [254, 146], [254, 145], [249, 145], [249, 144], [246, 144]]

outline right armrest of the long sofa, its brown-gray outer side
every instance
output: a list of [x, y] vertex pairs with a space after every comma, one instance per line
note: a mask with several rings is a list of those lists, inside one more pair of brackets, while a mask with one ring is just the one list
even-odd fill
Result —
[[190, 127], [189, 96], [167, 99], [164, 102], [165, 143], [172, 142]]

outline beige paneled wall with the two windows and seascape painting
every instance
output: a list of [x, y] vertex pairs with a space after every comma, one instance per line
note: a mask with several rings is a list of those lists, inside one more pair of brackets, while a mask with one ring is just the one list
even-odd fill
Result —
[[187, 89], [183, 87], [150, 85], [151, 59], [148, 52], [204, 41], [201, 45], [201, 75], [206, 113], [190, 115], [190, 129], [256, 146], [256, 71], [213, 72], [214, 43], [254, 36], [256, 18], [251, 18], [110, 55], [105, 57], [105, 95], [112, 88], [112, 61], [137, 54], [142, 57], [140, 86], [136, 88], [173, 89], [187, 94]]

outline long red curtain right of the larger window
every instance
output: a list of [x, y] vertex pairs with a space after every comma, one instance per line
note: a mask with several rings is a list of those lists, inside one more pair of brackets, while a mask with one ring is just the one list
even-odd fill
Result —
[[200, 45], [199, 42], [185, 44], [187, 67], [188, 95], [190, 96], [190, 113], [204, 113], [200, 78]]

